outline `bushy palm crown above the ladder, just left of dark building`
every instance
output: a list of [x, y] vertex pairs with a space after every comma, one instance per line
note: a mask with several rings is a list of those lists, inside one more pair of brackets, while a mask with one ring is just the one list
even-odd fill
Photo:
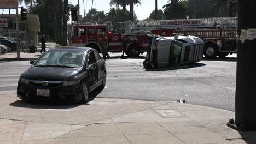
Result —
[[167, 20], [186, 19], [188, 16], [187, 0], [169, 0], [162, 8], [164, 8], [164, 16]]

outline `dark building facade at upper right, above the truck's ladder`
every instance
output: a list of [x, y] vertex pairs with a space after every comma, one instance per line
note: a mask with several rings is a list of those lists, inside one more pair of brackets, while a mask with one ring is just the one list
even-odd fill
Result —
[[189, 19], [209, 17], [236, 17], [237, 1], [188, 0]]

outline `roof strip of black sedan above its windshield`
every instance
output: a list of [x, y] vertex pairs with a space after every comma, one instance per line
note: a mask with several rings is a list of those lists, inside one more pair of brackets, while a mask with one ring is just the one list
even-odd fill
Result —
[[78, 51], [78, 52], [90, 52], [94, 51], [94, 49], [90, 47], [74, 47], [74, 46], [67, 46], [67, 47], [54, 47], [49, 49], [48, 51]]

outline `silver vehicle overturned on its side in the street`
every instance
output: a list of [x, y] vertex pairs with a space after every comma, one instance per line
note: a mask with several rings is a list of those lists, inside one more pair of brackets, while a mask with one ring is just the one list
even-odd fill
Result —
[[150, 41], [144, 68], [160, 68], [195, 63], [202, 60], [203, 41], [194, 36], [160, 37], [148, 35]]

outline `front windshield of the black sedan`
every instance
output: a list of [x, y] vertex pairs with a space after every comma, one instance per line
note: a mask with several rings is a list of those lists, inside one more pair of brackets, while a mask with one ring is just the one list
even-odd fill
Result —
[[83, 65], [84, 52], [47, 51], [34, 64], [35, 67], [80, 68]]

